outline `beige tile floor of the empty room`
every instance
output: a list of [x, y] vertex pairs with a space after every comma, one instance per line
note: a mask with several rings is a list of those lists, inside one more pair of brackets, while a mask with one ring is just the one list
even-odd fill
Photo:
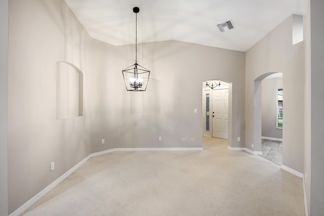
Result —
[[23, 215], [305, 215], [302, 179], [227, 140], [91, 158]]

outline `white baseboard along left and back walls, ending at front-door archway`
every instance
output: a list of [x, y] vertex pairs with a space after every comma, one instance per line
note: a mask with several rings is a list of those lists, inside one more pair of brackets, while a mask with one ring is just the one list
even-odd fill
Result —
[[115, 149], [109, 149], [101, 152], [96, 152], [88, 155], [85, 159], [78, 162], [76, 165], [74, 165], [72, 168], [70, 168], [68, 171], [66, 171], [62, 176], [60, 176], [58, 179], [56, 179], [54, 182], [52, 182], [49, 186], [44, 188], [41, 192], [37, 193], [35, 196], [33, 196], [31, 199], [29, 199], [27, 202], [25, 202], [22, 206], [20, 206], [18, 209], [16, 209], [14, 212], [12, 212], [9, 216], [19, 216], [22, 214], [25, 210], [27, 210], [30, 206], [32, 206], [34, 203], [36, 203], [39, 199], [41, 199], [45, 194], [50, 192], [55, 186], [60, 184], [64, 179], [66, 179], [68, 176], [72, 174], [77, 168], [79, 168], [81, 165], [83, 165], [87, 160], [89, 160], [92, 157], [96, 157], [99, 155], [111, 153], [111, 152], [117, 152], [117, 151], [202, 151], [203, 148], [115, 148]]

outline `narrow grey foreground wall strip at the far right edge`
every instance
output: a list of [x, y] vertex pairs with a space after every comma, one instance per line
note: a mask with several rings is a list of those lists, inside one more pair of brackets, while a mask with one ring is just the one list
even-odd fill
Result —
[[[310, 183], [310, 215], [323, 215], [324, 212], [324, 2], [310, 1], [310, 67], [311, 67], [311, 183]], [[307, 152], [308, 153], [308, 152]], [[309, 157], [307, 158], [309, 159]], [[309, 162], [309, 161], [307, 161]]]

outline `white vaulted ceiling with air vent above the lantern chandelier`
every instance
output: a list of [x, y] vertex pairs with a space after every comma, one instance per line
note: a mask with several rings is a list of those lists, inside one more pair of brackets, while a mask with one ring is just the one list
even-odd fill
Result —
[[[291, 14], [306, 15], [307, 0], [65, 0], [89, 34], [108, 44], [179, 40], [247, 51]], [[232, 20], [221, 33], [217, 24]]]

